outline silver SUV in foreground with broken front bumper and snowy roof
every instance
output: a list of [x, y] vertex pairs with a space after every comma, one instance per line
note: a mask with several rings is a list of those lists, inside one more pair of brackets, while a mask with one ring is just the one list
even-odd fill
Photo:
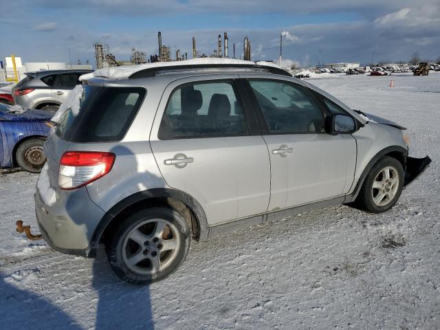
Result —
[[94, 256], [105, 243], [129, 283], [173, 273], [191, 239], [340, 203], [384, 212], [430, 163], [408, 157], [404, 127], [276, 67], [93, 76], [45, 142], [36, 217], [55, 250]]

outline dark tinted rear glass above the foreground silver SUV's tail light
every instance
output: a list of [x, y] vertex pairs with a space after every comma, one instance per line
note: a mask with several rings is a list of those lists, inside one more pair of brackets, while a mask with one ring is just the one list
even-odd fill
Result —
[[77, 115], [67, 109], [56, 126], [56, 134], [72, 142], [116, 142], [122, 140], [146, 90], [141, 87], [83, 86]]

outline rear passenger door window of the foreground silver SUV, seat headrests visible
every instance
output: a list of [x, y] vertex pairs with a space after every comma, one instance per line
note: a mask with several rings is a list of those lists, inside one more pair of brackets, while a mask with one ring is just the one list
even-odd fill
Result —
[[191, 83], [171, 94], [159, 139], [221, 137], [249, 133], [241, 103], [231, 82]]

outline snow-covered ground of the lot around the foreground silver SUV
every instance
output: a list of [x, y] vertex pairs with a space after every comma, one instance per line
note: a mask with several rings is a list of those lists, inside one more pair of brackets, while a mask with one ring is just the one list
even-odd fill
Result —
[[[388, 87], [391, 78], [395, 88]], [[408, 127], [432, 164], [384, 214], [326, 208], [192, 243], [166, 280], [133, 287], [36, 228], [36, 175], [0, 175], [1, 329], [439, 329], [440, 74], [307, 79]]]

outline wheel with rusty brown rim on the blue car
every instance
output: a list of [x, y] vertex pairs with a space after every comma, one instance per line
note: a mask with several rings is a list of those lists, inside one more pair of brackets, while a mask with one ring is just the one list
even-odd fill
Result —
[[45, 139], [33, 137], [29, 140], [21, 142], [15, 153], [17, 163], [22, 170], [30, 173], [40, 173], [46, 162], [43, 153], [43, 144]]

